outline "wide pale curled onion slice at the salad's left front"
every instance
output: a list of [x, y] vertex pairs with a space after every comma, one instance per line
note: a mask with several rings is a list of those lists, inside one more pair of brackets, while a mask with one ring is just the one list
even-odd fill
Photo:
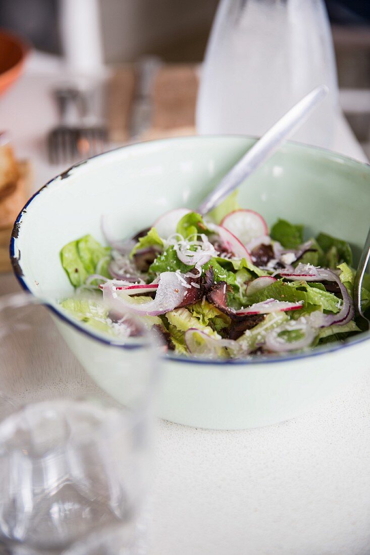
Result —
[[181, 304], [186, 292], [187, 287], [179, 282], [175, 272], [163, 272], [161, 274], [155, 299], [143, 305], [134, 304], [123, 291], [120, 291], [120, 295], [117, 295], [116, 287], [111, 281], [107, 281], [103, 285], [104, 301], [108, 303], [109, 308], [118, 314], [127, 314], [127, 312], [148, 316], [165, 314]]

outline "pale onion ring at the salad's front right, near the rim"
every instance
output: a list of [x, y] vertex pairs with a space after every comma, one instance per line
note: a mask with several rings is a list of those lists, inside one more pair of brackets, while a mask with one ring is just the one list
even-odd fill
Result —
[[[287, 341], [280, 334], [283, 331], [296, 331], [300, 330], [303, 332], [304, 337], [298, 339], [297, 341]], [[306, 319], [302, 316], [298, 320], [288, 320], [280, 326], [275, 327], [273, 330], [267, 332], [264, 339], [264, 347], [269, 351], [274, 352], [286, 352], [286, 351], [296, 351], [298, 349], [306, 349], [311, 345], [314, 340], [317, 331], [311, 327]]]

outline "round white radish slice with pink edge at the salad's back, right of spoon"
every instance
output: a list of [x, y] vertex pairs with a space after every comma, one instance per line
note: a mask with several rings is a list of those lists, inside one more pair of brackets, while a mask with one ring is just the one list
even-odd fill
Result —
[[254, 210], [234, 210], [224, 217], [221, 225], [231, 231], [243, 245], [247, 245], [257, 237], [268, 235], [266, 221]]

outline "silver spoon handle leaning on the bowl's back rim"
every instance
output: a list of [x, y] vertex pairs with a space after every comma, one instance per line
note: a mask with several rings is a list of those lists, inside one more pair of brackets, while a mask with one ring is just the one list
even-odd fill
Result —
[[248, 150], [246, 154], [234, 165], [228, 174], [210, 193], [201, 206], [200, 214], [207, 214], [214, 206], [230, 194], [242, 183], [254, 170], [267, 160], [281, 143], [290, 137], [306, 121], [309, 114], [326, 97], [328, 88], [320, 85], [308, 93], [297, 104], [294, 104], [286, 114], [283, 115], [262, 137]]

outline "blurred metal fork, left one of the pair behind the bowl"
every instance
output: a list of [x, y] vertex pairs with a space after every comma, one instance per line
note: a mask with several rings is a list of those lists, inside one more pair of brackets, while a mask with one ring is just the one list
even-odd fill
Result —
[[77, 119], [71, 123], [71, 112], [78, 97], [78, 90], [72, 87], [53, 90], [59, 111], [59, 124], [48, 134], [48, 154], [51, 164], [63, 164], [75, 160], [77, 150]]

